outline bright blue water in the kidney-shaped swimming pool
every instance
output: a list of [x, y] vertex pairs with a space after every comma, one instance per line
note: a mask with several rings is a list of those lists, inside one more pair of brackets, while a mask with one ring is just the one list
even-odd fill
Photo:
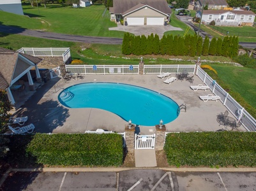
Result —
[[81, 83], [59, 94], [68, 108], [107, 110], [132, 124], [153, 126], [167, 124], [179, 115], [179, 106], [169, 97], [147, 88], [123, 83]]

